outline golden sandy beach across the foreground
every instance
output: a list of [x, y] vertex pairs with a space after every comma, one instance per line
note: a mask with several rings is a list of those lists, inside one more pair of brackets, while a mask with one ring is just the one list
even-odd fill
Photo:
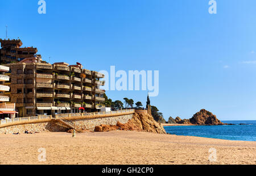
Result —
[[[256, 164], [256, 142], [112, 131], [0, 135], [0, 164]], [[38, 161], [38, 149], [46, 161]], [[209, 149], [217, 162], [208, 161]]]

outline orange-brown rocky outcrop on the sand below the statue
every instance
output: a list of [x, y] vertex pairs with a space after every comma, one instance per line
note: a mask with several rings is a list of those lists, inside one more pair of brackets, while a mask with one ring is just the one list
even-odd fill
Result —
[[96, 132], [107, 132], [114, 130], [124, 131], [145, 131], [152, 133], [166, 134], [163, 126], [157, 123], [154, 118], [149, 114], [137, 114], [134, 113], [133, 118], [127, 123], [122, 124], [119, 121], [117, 125], [103, 125], [96, 126], [94, 131]]

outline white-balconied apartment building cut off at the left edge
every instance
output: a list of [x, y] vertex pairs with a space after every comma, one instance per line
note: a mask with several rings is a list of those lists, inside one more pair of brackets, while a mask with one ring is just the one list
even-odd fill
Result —
[[9, 86], [3, 85], [9, 81], [9, 76], [3, 73], [9, 72], [9, 67], [0, 65], [0, 119], [15, 118], [15, 103], [9, 103], [10, 98], [5, 93], [10, 90]]

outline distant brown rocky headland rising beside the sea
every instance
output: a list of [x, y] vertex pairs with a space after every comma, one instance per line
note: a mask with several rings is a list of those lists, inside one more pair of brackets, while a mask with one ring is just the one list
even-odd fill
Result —
[[175, 118], [176, 123], [179, 124], [195, 124], [195, 125], [224, 125], [220, 120], [217, 119], [216, 115], [207, 110], [200, 110], [193, 115], [191, 119], [181, 120], [179, 117]]

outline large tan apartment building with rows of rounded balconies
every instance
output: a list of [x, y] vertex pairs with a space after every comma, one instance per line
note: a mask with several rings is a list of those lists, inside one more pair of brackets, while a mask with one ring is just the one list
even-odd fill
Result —
[[104, 74], [83, 69], [77, 62], [48, 64], [40, 55], [10, 66], [11, 102], [19, 116], [100, 111], [104, 105]]

